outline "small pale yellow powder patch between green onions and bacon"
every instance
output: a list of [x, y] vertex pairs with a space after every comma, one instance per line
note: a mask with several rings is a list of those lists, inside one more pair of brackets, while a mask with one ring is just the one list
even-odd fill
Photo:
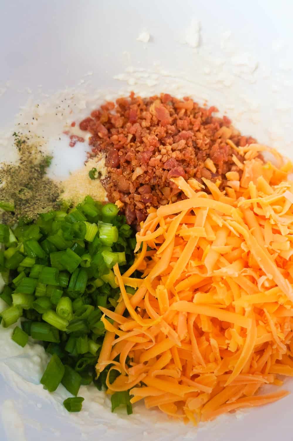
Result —
[[[88, 173], [96, 169], [95, 175], [99, 174], [99, 178], [91, 179]], [[91, 196], [96, 201], [106, 201], [106, 191], [100, 181], [106, 177], [107, 170], [105, 165], [105, 156], [100, 155], [89, 159], [82, 168], [71, 173], [69, 178], [62, 181], [61, 187], [64, 192], [61, 198], [72, 202], [74, 205], [81, 202], [85, 196]]]

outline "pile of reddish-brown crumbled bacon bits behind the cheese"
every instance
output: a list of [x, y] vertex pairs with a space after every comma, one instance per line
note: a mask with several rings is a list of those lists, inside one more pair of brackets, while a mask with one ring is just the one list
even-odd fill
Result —
[[220, 189], [229, 185], [227, 172], [241, 178], [237, 163], [243, 157], [233, 143], [245, 146], [255, 139], [242, 136], [226, 116], [217, 118], [214, 112], [216, 107], [202, 108], [188, 97], [141, 98], [132, 92], [81, 121], [81, 130], [92, 134], [93, 154], [106, 153], [103, 185], [110, 202], [120, 201], [128, 224], [144, 221], [150, 206], [185, 198], [173, 177], [220, 181]]

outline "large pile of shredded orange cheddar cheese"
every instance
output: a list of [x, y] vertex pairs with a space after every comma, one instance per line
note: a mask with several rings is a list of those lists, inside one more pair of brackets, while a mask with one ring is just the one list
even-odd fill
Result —
[[[263, 146], [235, 149], [243, 174], [229, 175], [225, 192], [173, 179], [187, 199], [149, 210], [134, 264], [123, 275], [114, 267], [116, 310], [100, 308], [107, 332], [96, 367], [111, 364], [108, 393], [130, 390], [132, 403], [194, 424], [276, 401], [288, 392], [265, 385], [293, 376], [292, 164], [275, 152], [278, 168], [264, 164]], [[125, 285], [138, 289], [128, 295]]]

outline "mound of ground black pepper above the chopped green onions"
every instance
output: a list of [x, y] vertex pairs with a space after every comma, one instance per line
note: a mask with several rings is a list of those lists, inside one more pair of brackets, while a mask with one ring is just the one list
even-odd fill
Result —
[[14, 224], [19, 218], [33, 220], [38, 213], [58, 207], [58, 184], [46, 176], [51, 157], [45, 156], [31, 139], [14, 133], [18, 164], [1, 164], [0, 208], [2, 222]]

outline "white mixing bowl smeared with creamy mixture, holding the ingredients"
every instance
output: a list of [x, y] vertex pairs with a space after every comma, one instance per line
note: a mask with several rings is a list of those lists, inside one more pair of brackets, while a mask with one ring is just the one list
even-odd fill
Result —
[[[1, 161], [14, 157], [11, 134], [19, 113], [21, 130], [48, 140], [55, 156], [51, 174], [66, 176], [81, 166], [85, 146], [70, 149], [61, 135], [64, 125], [104, 98], [131, 90], [206, 100], [243, 134], [293, 157], [290, 0], [12, 0], [1, 6]], [[30, 366], [23, 372], [18, 351], [1, 344], [3, 441], [292, 439], [292, 396], [199, 429], [160, 420], [156, 411], [142, 407], [128, 418], [110, 414], [95, 390], [81, 391], [87, 394], [83, 411], [70, 415], [62, 407], [62, 386], [52, 396], [40, 395], [42, 354], [21, 353]], [[288, 380], [285, 386], [293, 389]]]

